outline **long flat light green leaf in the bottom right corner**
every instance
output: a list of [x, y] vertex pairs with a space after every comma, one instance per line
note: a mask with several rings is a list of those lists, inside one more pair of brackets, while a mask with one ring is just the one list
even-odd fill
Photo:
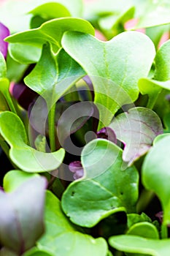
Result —
[[139, 236], [112, 236], [109, 244], [123, 252], [142, 253], [152, 256], [169, 255], [170, 239], [158, 240]]

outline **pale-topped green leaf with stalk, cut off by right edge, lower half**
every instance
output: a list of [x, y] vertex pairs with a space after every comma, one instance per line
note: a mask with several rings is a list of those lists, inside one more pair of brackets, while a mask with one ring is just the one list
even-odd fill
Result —
[[163, 206], [163, 224], [170, 224], [169, 166], [170, 136], [166, 136], [150, 149], [142, 166], [142, 183], [158, 195]]

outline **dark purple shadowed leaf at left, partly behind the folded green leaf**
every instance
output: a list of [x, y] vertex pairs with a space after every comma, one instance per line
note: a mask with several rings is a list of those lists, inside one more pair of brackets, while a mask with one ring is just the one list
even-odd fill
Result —
[[20, 106], [26, 110], [28, 110], [28, 106], [37, 96], [36, 92], [32, 91], [24, 83], [12, 83], [9, 91], [18, 100]]

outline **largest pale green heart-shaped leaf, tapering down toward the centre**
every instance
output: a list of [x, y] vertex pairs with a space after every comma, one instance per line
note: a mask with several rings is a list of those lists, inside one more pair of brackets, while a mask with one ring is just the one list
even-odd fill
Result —
[[148, 75], [155, 57], [152, 41], [136, 31], [119, 34], [109, 42], [68, 31], [63, 35], [62, 45], [90, 75], [100, 121], [104, 123], [98, 129], [107, 127], [122, 105], [137, 99], [137, 82]]

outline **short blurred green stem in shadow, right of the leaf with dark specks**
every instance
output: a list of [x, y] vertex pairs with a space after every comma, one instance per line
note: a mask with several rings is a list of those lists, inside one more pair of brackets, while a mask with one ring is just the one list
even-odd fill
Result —
[[154, 196], [155, 196], [154, 192], [143, 189], [139, 197], [138, 203], [136, 205], [136, 212], [140, 213], [144, 211]]

